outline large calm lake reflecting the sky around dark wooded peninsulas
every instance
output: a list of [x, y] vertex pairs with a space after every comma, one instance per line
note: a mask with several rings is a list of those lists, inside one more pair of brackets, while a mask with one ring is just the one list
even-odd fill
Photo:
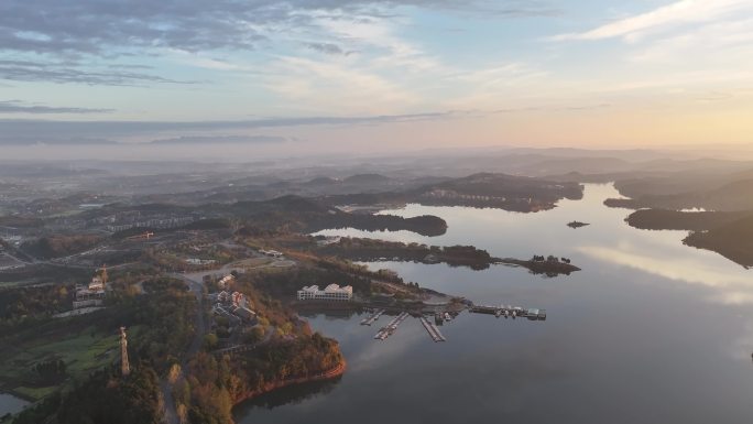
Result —
[[[385, 341], [390, 319], [313, 315], [348, 360], [332, 382], [283, 389], [236, 409], [239, 423], [750, 423], [753, 420], [753, 271], [683, 246], [685, 231], [629, 227], [602, 202], [612, 185], [586, 185], [582, 200], [536, 214], [408, 205], [437, 215], [447, 233], [326, 230], [427, 244], [473, 244], [495, 257], [567, 257], [582, 268], [546, 279], [525, 269], [370, 263], [406, 281], [476, 303], [546, 308], [547, 320], [463, 313], [433, 343], [408, 318]], [[590, 226], [571, 229], [567, 222]]]

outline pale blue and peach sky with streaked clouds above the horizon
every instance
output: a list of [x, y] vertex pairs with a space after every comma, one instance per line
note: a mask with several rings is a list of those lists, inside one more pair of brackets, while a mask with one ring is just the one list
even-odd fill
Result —
[[751, 0], [0, 1], [6, 157], [751, 143]]

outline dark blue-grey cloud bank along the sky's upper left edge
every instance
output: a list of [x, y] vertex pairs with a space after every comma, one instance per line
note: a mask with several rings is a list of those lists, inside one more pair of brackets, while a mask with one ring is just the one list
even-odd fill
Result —
[[253, 50], [275, 32], [315, 25], [320, 15], [384, 17], [399, 6], [508, 17], [552, 12], [521, 0], [4, 0], [0, 50], [70, 56], [154, 47]]

